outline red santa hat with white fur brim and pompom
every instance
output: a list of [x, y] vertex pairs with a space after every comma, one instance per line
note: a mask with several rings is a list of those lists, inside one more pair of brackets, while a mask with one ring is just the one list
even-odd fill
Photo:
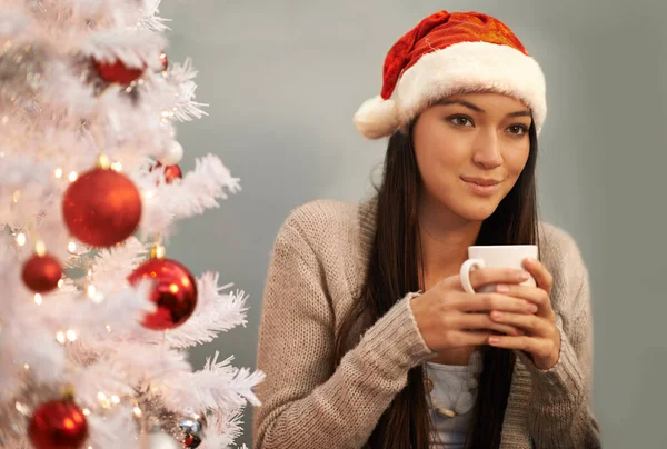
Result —
[[544, 73], [505, 23], [478, 12], [440, 11], [391, 47], [382, 90], [361, 104], [355, 124], [366, 138], [380, 139], [406, 130], [431, 102], [464, 92], [522, 101], [537, 132], [547, 116]]

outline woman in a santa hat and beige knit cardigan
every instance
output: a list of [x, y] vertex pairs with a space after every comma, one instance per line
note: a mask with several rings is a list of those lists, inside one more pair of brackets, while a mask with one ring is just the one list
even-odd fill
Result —
[[[256, 448], [600, 446], [587, 270], [537, 219], [545, 117], [541, 70], [496, 19], [441, 11], [396, 42], [355, 117], [390, 137], [377, 197], [311, 202], [277, 236]], [[497, 288], [469, 295], [475, 243], [540, 261], [476, 270], [476, 291]]]

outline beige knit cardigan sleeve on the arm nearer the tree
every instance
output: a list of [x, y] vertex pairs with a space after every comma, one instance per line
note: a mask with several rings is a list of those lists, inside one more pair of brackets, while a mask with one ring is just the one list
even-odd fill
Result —
[[334, 312], [321, 266], [298, 231], [276, 239], [265, 289], [253, 448], [360, 448], [432, 353], [406, 297], [334, 368]]

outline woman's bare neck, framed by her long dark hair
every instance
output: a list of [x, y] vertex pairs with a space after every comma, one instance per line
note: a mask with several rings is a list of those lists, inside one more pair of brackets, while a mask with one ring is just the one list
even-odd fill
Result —
[[445, 208], [422, 204], [418, 211], [424, 288], [456, 275], [475, 245], [481, 221], [467, 221]]

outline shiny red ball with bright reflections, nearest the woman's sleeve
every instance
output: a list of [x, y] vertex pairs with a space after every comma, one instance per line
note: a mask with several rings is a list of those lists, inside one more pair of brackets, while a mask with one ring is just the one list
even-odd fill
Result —
[[155, 281], [150, 300], [157, 305], [143, 318], [145, 328], [173, 329], [190, 318], [197, 306], [197, 281], [186, 267], [171, 259], [149, 259], [128, 277], [131, 285], [143, 279]]

